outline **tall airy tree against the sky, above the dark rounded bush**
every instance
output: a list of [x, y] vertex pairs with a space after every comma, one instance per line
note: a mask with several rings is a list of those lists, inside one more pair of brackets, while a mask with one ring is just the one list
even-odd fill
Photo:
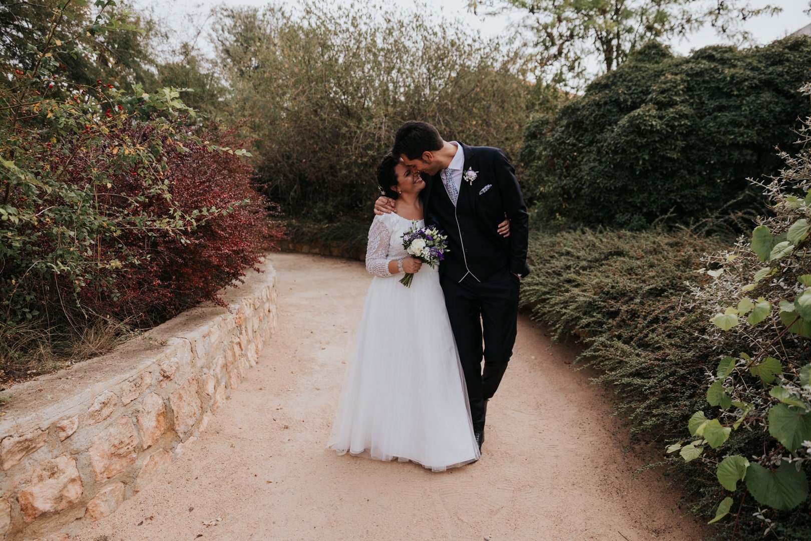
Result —
[[[540, 66], [551, 83], [581, 88], [613, 71], [646, 41], [685, 36], [709, 24], [728, 41], [751, 36], [740, 24], [781, 8], [750, 0], [469, 0], [474, 12], [526, 12]], [[590, 73], [597, 67], [597, 74]], [[591, 69], [590, 69], [591, 68]]]

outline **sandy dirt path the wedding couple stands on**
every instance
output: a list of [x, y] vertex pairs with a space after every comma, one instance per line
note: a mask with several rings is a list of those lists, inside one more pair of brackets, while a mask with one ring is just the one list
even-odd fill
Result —
[[[80, 541], [279, 539], [695, 541], [677, 494], [622, 452], [625, 434], [577, 352], [521, 317], [480, 461], [434, 474], [325, 449], [370, 277], [276, 254], [280, 325], [259, 365], [164, 479]], [[217, 526], [203, 521], [221, 518]]]

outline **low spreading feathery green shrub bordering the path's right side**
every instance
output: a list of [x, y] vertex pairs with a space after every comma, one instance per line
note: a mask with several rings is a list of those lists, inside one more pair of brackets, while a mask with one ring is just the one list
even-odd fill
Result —
[[[599, 371], [595, 382], [615, 398], [632, 441], [651, 443], [650, 465], [684, 492], [684, 506], [710, 521], [723, 488], [714, 465], [668, 458], [666, 444], [684, 440], [685, 423], [697, 410], [709, 414], [706, 389], [723, 356], [706, 336], [708, 316], [697, 310], [692, 286], [714, 281], [702, 255], [717, 252], [729, 238], [704, 238], [676, 232], [610, 232], [571, 230], [530, 236], [533, 273], [521, 286], [521, 303], [534, 320], [546, 324], [556, 339], [577, 335], [586, 346], [577, 366]], [[760, 453], [758, 432], [737, 431], [724, 453]], [[677, 455], [678, 453], [676, 453]], [[780, 539], [809, 539], [811, 520], [806, 504], [793, 512], [762, 506], [763, 519], [773, 522]], [[737, 510], [733, 509], [733, 511]], [[762, 539], [767, 524], [749, 500], [741, 520], [719, 522], [712, 539]]]

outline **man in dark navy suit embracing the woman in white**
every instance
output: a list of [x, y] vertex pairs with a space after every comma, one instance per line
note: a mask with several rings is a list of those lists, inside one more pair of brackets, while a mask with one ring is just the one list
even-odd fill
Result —
[[[487, 401], [513, 354], [518, 287], [530, 273], [521, 187], [500, 149], [445, 141], [427, 122], [405, 122], [397, 130], [392, 153], [423, 175], [425, 223], [438, 225], [448, 235], [440, 283], [481, 449]], [[375, 203], [375, 213], [393, 210], [394, 201], [387, 197]], [[510, 220], [508, 238], [496, 231], [504, 216]]]

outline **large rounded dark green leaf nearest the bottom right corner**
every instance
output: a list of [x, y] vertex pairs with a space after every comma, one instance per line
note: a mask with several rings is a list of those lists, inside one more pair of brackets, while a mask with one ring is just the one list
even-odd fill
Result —
[[804, 471], [783, 462], [777, 470], [766, 470], [757, 462], [746, 470], [746, 488], [758, 503], [781, 511], [791, 511], [809, 497]]

